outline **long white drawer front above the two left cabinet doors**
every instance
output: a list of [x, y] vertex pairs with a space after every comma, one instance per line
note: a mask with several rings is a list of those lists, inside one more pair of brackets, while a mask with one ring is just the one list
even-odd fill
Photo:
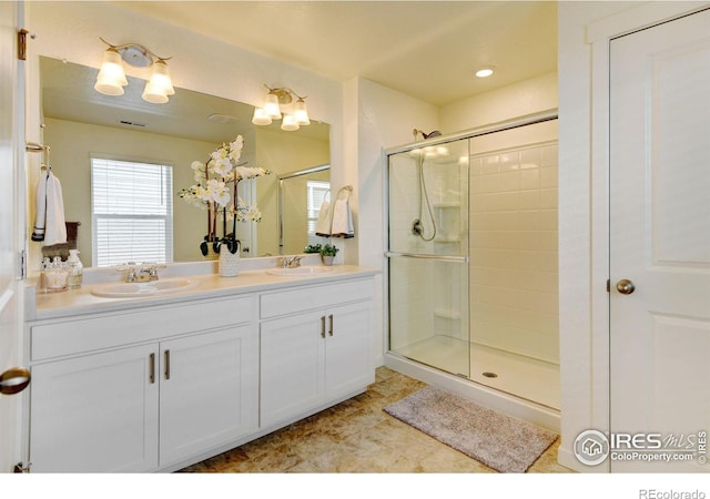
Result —
[[253, 310], [254, 297], [246, 296], [34, 325], [30, 327], [30, 357], [43, 360], [250, 323]]

